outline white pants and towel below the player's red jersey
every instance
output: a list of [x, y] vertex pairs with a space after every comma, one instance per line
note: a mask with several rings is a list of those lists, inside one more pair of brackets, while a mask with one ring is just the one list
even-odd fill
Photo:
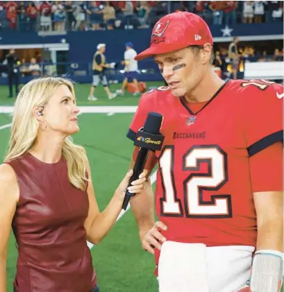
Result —
[[254, 250], [166, 241], [158, 263], [159, 291], [236, 292], [249, 280]]

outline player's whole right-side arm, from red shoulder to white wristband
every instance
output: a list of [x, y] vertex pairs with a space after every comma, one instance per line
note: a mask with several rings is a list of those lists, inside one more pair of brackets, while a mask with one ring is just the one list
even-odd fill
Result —
[[[283, 99], [276, 92], [283, 86], [254, 80], [244, 87], [249, 87], [243, 118], [258, 230], [250, 288], [278, 292], [283, 278]], [[273, 118], [263, 122], [267, 112]]]

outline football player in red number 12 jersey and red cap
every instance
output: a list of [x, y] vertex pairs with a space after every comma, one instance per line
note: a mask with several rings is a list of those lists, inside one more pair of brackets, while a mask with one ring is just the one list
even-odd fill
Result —
[[[212, 35], [190, 12], [162, 17], [151, 45], [169, 85], [144, 94], [128, 131], [163, 116], [154, 223], [151, 184], [131, 200], [160, 292], [278, 292], [283, 274], [283, 86], [224, 82], [212, 71]], [[133, 153], [131, 167], [138, 149]]]

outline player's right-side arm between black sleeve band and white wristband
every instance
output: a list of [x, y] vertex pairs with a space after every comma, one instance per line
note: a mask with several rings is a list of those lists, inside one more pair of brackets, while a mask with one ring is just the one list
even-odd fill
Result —
[[283, 252], [283, 144], [276, 142], [250, 157], [256, 208], [257, 250]]

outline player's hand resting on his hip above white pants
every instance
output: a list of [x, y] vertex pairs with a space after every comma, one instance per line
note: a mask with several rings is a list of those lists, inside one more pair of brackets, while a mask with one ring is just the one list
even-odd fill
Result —
[[164, 223], [157, 221], [142, 239], [142, 247], [152, 255], [155, 253], [154, 248], [160, 250], [162, 243], [167, 240], [162, 233], [160, 233], [160, 230], [167, 230], [167, 226]]

